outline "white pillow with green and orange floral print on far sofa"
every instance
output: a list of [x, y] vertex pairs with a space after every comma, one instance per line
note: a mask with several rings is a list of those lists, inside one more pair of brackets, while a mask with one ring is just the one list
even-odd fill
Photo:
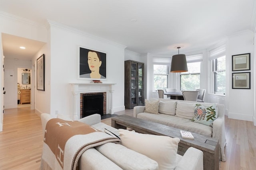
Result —
[[213, 104], [212, 106], [208, 107], [202, 106], [201, 104], [196, 104], [194, 117], [192, 121], [212, 127], [213, 121], [217, 117], [218, 112], [216, 109], [216, 104]]

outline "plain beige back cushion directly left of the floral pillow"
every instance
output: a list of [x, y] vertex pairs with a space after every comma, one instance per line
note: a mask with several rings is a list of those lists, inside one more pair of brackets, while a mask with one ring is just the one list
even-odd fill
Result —
[[196, 103], [177, 102], [176, 116], [192, 120]]

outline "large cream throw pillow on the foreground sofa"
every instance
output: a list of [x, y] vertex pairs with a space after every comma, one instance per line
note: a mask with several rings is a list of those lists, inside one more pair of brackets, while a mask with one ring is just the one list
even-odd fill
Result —
[[125, 129], [118, 129], [118, 132], [122, 145], [155, 160], [159, 170], [175, 168], [179, 138], [142, 134]]

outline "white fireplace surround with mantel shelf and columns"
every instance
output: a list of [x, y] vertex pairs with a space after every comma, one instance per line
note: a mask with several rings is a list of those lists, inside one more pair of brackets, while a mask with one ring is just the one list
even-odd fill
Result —
[[80, 94], [106, 92], [106, 114], [114, 114], [113, 83], [70, 83], [71, 92], [73, 94], [73, 120], [80, 119]]

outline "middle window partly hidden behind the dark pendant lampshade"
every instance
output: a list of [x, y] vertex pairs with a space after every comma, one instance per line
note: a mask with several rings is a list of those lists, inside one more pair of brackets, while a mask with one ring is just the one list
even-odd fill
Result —
[[188, 72], [180, 73], [180, 90], [196, 90], [200, 88], [200, 64], [187, 63]]

